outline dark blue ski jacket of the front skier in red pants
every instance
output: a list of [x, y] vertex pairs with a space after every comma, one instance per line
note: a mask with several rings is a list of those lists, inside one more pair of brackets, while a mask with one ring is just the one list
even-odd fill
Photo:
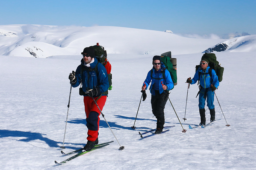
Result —
[[[94, 70], [96, 65], [98, 75], [96, 70]], [[94, 59], [94, 62], [90, 64], [90, 67], [86, 67], [84, 65], [84, 60], [81, 59], [81, 64], [77, 67], [75, 76], [77, 81], [72, 87], [77, 87], [82, 83], [84, 92], [99, 87], [100, 92], [103, 93], [109, 88], [107, 70], [101, 63], [98, 63], [96, 58]]]

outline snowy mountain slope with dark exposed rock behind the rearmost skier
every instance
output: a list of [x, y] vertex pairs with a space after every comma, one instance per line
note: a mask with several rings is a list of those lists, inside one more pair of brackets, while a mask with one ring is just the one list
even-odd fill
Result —
[[206, 53], [214, 52], [256, 52], [256, 35], [236, 37], [221, 42], [205, 50]]

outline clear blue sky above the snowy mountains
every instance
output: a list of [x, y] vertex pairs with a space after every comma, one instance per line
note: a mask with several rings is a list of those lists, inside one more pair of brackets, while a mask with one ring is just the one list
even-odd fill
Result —
[[255, 0], [0, 2], [0, 25], [118, 26], [178, 34], [256, 34]]

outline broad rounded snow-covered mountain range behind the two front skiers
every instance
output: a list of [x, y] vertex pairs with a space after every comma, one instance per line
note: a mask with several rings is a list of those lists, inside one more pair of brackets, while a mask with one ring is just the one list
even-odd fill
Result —
[[124, 27], [60, 27], [42, 25], [0, 26], [0, 55], [46, 58], [53, 55], [80, 55], [97, 42], [108, 54], [159, 55], [201, 53], [223, 39], [194, 39], [163, 31]]

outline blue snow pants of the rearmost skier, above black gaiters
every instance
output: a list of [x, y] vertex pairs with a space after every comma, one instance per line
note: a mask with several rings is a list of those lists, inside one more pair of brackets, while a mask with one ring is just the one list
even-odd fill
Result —
[[214, 108], [214, 91], [211, 90], [211, 88], [202, 88], [199, 93], [199, 109], [203, 109], [205, 105], [205, 100], [207, 102], [207, 106], [209, 109]]

